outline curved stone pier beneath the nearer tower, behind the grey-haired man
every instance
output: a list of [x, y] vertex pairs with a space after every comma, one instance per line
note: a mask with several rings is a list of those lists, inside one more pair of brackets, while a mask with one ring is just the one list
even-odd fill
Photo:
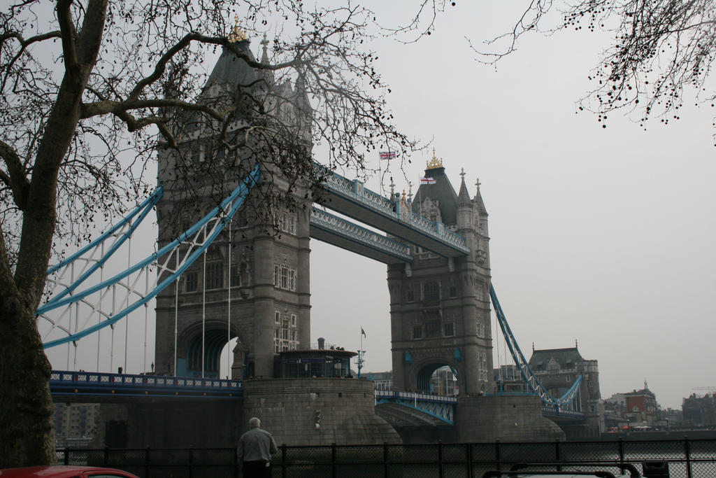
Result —
[[241, 431], [248, 419], [286, 445], [400, 443], [375, 414], [373, 382], [351, 378], [274, 378], [243, 382]]

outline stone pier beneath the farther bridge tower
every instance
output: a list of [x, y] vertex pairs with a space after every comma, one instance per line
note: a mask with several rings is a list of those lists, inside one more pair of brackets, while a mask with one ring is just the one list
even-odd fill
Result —
[[534, 396], [467, 396], [458, 398], [455, 441], [553, 441], [564, 432], [542, 416]]

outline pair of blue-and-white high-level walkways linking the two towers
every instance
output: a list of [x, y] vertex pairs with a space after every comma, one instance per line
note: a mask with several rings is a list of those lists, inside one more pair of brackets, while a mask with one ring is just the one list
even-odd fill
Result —
[[[319, 165], [316, 167], [323, 168]], [[370, 224], [407, 244], [415, 244], [443, 257], [459, 257], [470, 253], [463, 235], [451, 231], [445, 224], [413, 214], [407, 202], [387, 199], [365, 188], [362, 181], [350, 180], [328, 171], [322, 189], [323, 206]], [[316, 208], [311, 212], [311, 237], [388, 264], [412, 262], [407, 244], [373, 233]]]

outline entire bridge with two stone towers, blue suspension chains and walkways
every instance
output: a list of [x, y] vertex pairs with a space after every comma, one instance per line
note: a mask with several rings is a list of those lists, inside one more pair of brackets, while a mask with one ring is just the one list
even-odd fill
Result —
[[[247, 40], [239, 42], [239, 46], [251, 55]], [[231, 92], [241, 88], [247, 78], [258, 79], [258, 75], [225, 50], [204, 91], [212, 95]], [[289, 98], [274, 103], [274, 107], [291, 113], [288, 115], [291, 118], [310, 114], [302, 110], [309, 102], [300, 84], [293, 87], [264, 80], [269, 82], [267, 91], [280, 89], [282, 97]], [[211, 140], [210, 136], [194, 133], [180, 148], [206, 152], [211, 148]], [[201, 154], [204, 153], [186, 154], [195, 160], [190, 174], [196, 177], [200, 177], [204, 168]], [[137, 307], [146, 308], [147, 297], [156, 296], [156, 371], [175, 379], [162, 379], [161, 387], [144, 383], [147, 387], [140, 389], [145, 396], [162, 395], [163, 400], [168, 400], [172, 398], [172, 391], [174, 396], [181, 393], [197, 400], [205, 393], [219, 393], [225, 398], [227, 394], [231, 398], [241, 396], [243, 404], [236, 409], [241, 411], [231, 413], [261, 416], [275, 434], [284, 434], [286, 443], [295, 439], [297, 443], [318, 444], [329, 439], [325, 430], [331, 430], [330, 439], [334, 441], [375, 440], [377, 436], [393, 441], [397, 439], [395, 431], [385, 428], [385, 422], [374, 415], [374, 403], [390, 401], [410, 408], [411, 398], [415, 413], [427, 413], [437, 420], [435, 424], [452, 426], [451, 435], [447, 437], [453, 441], [563, 436], [553, 422], [543, 419], [541, 403], [551, 406], [548, 411], [556, 413], [570, 410], [575, 403], [573, 391], [569, 391], [566, 398], [556, 398], [544, 390], [526, 360], [520, 358], [521, 352], [514, 340], [510, 342], [513, 357], [531, 392], [540, 398], [493, 396], [496, 389], [492, 375], [491, 299], [503, 333], [508, 326], [490, 283], [488, 214], [479, 183], [470, 196], [462, 173], [456, 192], [445, 174], [442, 160], [435, 153], [425, 169], [425, 176], [433, 181], [421, 184], [415, 198], [394, 193], [384, 197], [369, 191], [361, 181], [327, 172], [321, 206], [383, 233], [314, 207], [306, 186], [294, 184], [291, 193], [297, 207], [274, 211], [281, 234], [271, 234], [267, 226], [272, 225], [267, 225], [261, 217], [237, 219], [235, 216], [244, 201], [250, 201], [257, 191], [265, 193], [262, 188], [268, 184], [288, 191], [287, 181], [275, 176], [271, 166], [252, 158], [243, 169], [253, 171], [251, 176], [228, 174], [224, 177], [223, 181], [236, 186], [236, 191], [198, 221], [200, 216], [185, 203], [186, 185], [177, 173], [177, 155], [173, 150], [158, 152], [158, 181], [163, 187], [163, 195], [155, 198], [159, 251], [137, 267], [127, 269], [129, 272], [100, 281], [100, 285], [87, 290], [81, 290], [78, 284], [89, 277], [89, 272], [82, 274], [79, 282], [70, 281], [66, 288], [69, 292], [48, 302], [38, 313], [44, 315], [52, 308], [72, 307], [82, 301], [93, 313], [99, 313], [100, 319], [97, 325], [89, 325], [84, 330], [78, 330], [77, 325], [74, 330], [71, 326], [58, 327], [59, 322], [53, 322], [53, 329], [64, 330], [66, 336], [52, 340], [51, 345], [76, 342], [105, 325], [114, 324]], [[260, 177], [272, 174], [273, 181], [261, 182]], [[208, 201], [210, 192], [207, 190], [203, 199]], [[195, 225], [177, 238], [177, 224]], [[134, 223], [130, 221], [126, 226], [131, 229]], [[304, 350], [311, 343], [311, 239], [387, 264], [394, 395], [376, 398], [367, 381], [274, 378], [277, 354]], [[95, 250], [97, 247], [95, 245]], [[158, 277], [151, 292], [142, 295], [135, 289], [135, 283], [140, 280], [140, 274], [148, 274], [152, 267], [158, 270]], [[74, 279], [74, 273], [72, 276]], [[130, 277], [134, 278], [132, 285]], [[124, 282], [126, 300], [125, 297], [115, 300], [115, 286]], [[95, 293], [100, 295], [98, 302], [89, 298]], [[97, 303], [108, 295], [112, 297], [112, 311], [101, 312]], [[69, 317], [71, 320], [72, 315]], [[511, 337], [511, 332], [505, 335]], [[228, 387], [233, 384], [236, 393], [231, 388], [223, 390], [224, 381], [218, 380], [221, 350], [235, 338], [232, 380], [226, 384]], [[430, 390], [430, 376], [445, 365], [457, 376], [460, 391], [458, 398], [449, 401], [426, 394]], [[108, 382], [102, 382], [102, 376], [97, 374], [94, 383], [88, 375], [77, 377], [84, 377], [79, 380], [84, 382], [79, 388], [89, 386], [85, 388], [88, 394], [121, 388], [121, 393], [113, 393], [125, 396], [137, 395], [133, 391], [142, 383], [136, 381], [153, 380], [147, 376], [107, 376]], [[182, 377], [200, 377], [212, 383], [216, 381], [219, 386], [208, 386], [213, 388], [211, 391], [204, 389], [207, 385], [203, 381], [198, 385], [188, 386], [186, 382], [178, 385], [178, 380], [186, 380]], [[62, 380], [52, 385], [55, 393], [70, 396], [79, 393], [72, 392], [74, 388], [68, 388]], [[112, 389], [110, 385], [121, 387]], [[200, 409], [200, 404], [197, 407]], [[286, 422], [288, 408], [301, 410], [291, 419], [295, 423]], [[347, 417], [346, 412], [353, 408], [359, 412]], [[153, 408], [153, 413], [170, 414], [170, 411]], [[358, 416], [362, 418], [357, 419]], [[515, 416], [520, 417], [519, 429], [506, 426], [518, 423]], [[172, 416], [165, 417], [165, 423], [171, 420]], [[359, 421], [362, 425], [358, 425]], [[302, 435], [298, 431], [292, 435], [294, 429], [304, 431]], [[323, 431], [317, 434], [315, 431], [319, 429]], [[340, 431], [342, 429], [346, 431]], [[379, 433], [372, 434], [371, 429]]]

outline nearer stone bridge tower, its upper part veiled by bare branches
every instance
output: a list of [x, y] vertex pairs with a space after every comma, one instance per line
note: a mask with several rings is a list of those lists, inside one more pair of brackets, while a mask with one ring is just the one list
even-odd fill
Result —
[[[253, 59], [248, 39], [236, 38], [236, 42]], [[264, 38], [261, 43], [261, 61], [268, 62], [268, 42]], [[280, 127], [294, 128], [294, 139], [299, 138], [310, 153], [307, 115], [311, 113], [301, 82], [295, 87], [289, 81], [279, 84], [271, 72], [254, 70], [225, 48], [201, 99], [241, 105], [242, 96], [249, 96], [246, 93], [251, 102], [243, 103], [247, 111], [237, 113], [228, 124], [229, 143], [231, 133], [243, 134], [246, 125], [293, 118], [293, 125], [281, 123]], [[260, 113], [251, 113], [257, 98], [263, 100]], [[157, 209], [160, 247], [236, 188], [257, 159], [263, 179], [247, 199], [250, 204], [239, 211], [205, 256], [182, 275], [176, 287], [167, 287], [158, 296], [156, 370], [177, 376], [218, 376], [221, 350], [230, 339], [238, 338], [231, 376], [272, 377], [274, 353], [309, 345], [309, 196], [293, 183], [291, 193], [297, 206], [272, 202], [266, 207], [267, 198], [275, 197], [273, 191], [289, 189], [289, 181], [272, 166], [280, 151], [254, 143], [251, 150], [259, 153], [253, 156], [232, 152], [219, 145], [216, 135], [221, 125], [211, 119], [166, 115], [182, 131], [183, 142], [179, 152], [159, 148], [158, 181], [165, 189]]]

